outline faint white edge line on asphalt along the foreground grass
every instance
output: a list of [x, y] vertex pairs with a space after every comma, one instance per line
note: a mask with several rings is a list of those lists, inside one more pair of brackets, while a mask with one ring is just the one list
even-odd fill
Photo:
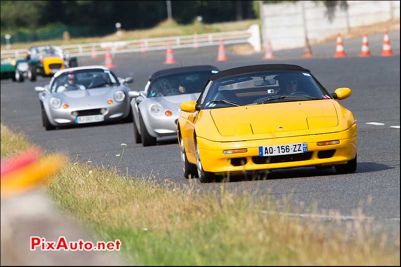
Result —
[[259, 213], [263, 214], [278, 214], [289, 217], [304, 217], [304, 218], [319, 218], [326, 220], [369, 220], [369, 219], [381, 219], [381, 220], [395, 220], [399, 221], [399, 217], [364, 217], [364, 216], [349, 216], [349, 215], [324, 215], [324, 214], [313, 214], [313, 213], [290, 213], [290, 212], [277, 212], [270, 210], [260, 210]]

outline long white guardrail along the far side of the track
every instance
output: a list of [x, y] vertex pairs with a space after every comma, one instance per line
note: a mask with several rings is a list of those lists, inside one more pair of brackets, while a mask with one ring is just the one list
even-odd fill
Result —
[[[219, 45], [220, 40], [224, 44], [241, 44], [249, 43], [252, 45], [255, 51], [261, 51], [260, 43], [260, 31], [259, 25], [251, 25], [248, 30], [245, 31], [234, 31], [224, 33], [211, 33], [211, 34], [195, 34], [185, 36], [173, 36], [163, 38], [147, 38], [140, 40], [130, 41], [117, 41], [117, 42], [103, 42], [103, 43], [92, 43], [92, 44], [80, 44], [80, 45], [65, 45], [60, 46], [64, 50], [64, 53], [68, 53], [70, 56], [90, 56], [94, 50], [97, 55], [106, 54], [106, 49], [110, 48], [112, 54], [119, 53], [131, 53], [131, 52], [143, 52], [143, 51], [154, 51], [154, 50], [165, 50], [167, 49], [167, 43], [170, 42], [172, 49], [177, 48], [191, 48], [191, 47], [203, 47], [203, 46], [214, 46]], [[2, 50], [2, 59], [20, 59], [26, 56], [26, 49], [17, 50]]]

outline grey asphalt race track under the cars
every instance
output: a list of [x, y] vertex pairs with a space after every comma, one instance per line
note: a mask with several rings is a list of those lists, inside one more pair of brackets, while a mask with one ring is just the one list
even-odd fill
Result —
[[[380, 57], [382, 34], [369, 35], [372, 57], [359, 58], [361, 37], [344, 40], [346, 58], [334, 59], [335, 42], [312, 46], [314, 58], [301, 59], [303, 49], [275, 52], [275, 60], [262, 60], [263, 53], [236, 56], [228, 53], [228, 61], [216, 61], [218, 48], [204, 47], [174, 50], [176, 65], [212, 64], [221, 70], [237, 66], [265, 63], [297, 64], [310, 69], [330, 91], [339, 87], [352, 89], [352, 96], [341, 101], [351, 110], [358, 125], [358, 167], [354, 174], [337, 175], [334, 168], [296, 168], [276, 170], [267, 180], [237, 177], [225, 185], [226, 190], [247, 190], [270, 193], [306, 205], [316, 203], [320, 209], [338, 210], [352, 216], [362, 205], [364, 216], [373, 217], [380, 225], [390, 226], [399, 235], [399, 31], [389, 33], [392, 57]], [[227, 48], [227, 47], [226, 47]], [[170, 67], [163, 65], [164, 51], [119, 54], [113, 58], [119, 77], [133, 76], [132, 90], [143, 90], [153, 72]], [[79, 58], [81, 66], [103, 64], [104, 56], [96, 59]], [[120, 169], [138, 177], [152, 177], [159, 181], [170, 179], [179, 186], [189, 183], [182, 176], [179, 148], [175, 137], [163, 138], [156, 146], [134, 144], [132, 123], [113, 123], [45, 131], [42, 127], [39, 99], [35, 86], [43, 86], [49, 78], [37, 82], [1, 82], [1, 120], [14, 130], [24, 131], [32, 142], [49, 151], [65, 151], [72, 159], [93, 164], [116, 165], [120, 160], [121, 143], [127, 147]], [[272, 114], [271, 116], [276, 116]], [[369, 122], [382, 125], [366, 124]], [[391, 126], [398, 126], [394, 128]], [[200, 190], [220, 190], [220, 184], [200, 184]]]

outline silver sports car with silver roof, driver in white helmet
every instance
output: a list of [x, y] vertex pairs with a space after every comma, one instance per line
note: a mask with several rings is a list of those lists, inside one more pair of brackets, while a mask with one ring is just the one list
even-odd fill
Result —
[[42, 123], [55, 127], [128, 119], [132, 77], [117, 78], [103, 66], [76, 67], [58, 71], [49, 85], [35, 87], [39, 93]]

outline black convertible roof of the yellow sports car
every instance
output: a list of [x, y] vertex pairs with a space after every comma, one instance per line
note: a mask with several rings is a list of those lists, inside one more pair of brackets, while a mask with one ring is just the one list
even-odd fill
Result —
[[234, 69], [229, 69], [225, 71], [221, 71], [213, 75], [210, 79], [212, 81], [233, 76], [233, 75], [240, 75], [246, 73], [257, 73], [257, 72], [265, 72], [265, 71], [302, 71], [302, 72], [309, 72], [308, 69], [302, 68], [301, 66], [297, 65], [290, 65], [290, 64], [262, 64], [262, 65], [251, 65], [251, 66], [244, 66], [238, 67]]

